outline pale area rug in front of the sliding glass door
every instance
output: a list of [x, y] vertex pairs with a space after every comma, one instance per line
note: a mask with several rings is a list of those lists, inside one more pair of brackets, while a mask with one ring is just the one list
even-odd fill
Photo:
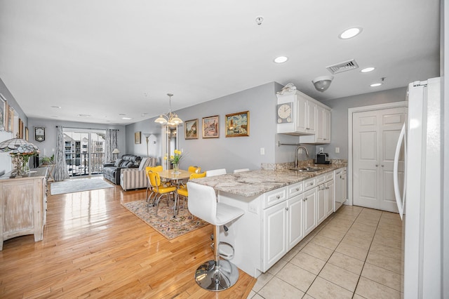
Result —
[[113, 185], [105, 182], [102, 178], [86, 178], [76, 180], [62, 180], [52, 182], [50, 185], [51, 195], [81, 192], [103, 188], [112, 188]]

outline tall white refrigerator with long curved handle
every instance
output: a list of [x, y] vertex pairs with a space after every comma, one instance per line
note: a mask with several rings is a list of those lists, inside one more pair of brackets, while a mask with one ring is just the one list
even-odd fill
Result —
[[[398, 180], [395, 161], [394, 186], [399, 213], [404, 213], [404, 298], [441, 298], [440, 78], [409, 84], [408, 121], [402, 136], [406, 145], [405, 179]], [[401, 138], [396, 159], [400, 142]]]

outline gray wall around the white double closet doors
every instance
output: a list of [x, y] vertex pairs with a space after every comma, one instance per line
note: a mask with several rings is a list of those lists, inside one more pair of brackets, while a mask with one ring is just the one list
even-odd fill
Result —
[[[406, 100], [407, 88], [395, 88], [376, 93], [353, 95], [347, 98], [324, 101], [323, 104], [332, 108], [330, 120], [330, 144], [319, 145], [331, 159], [348, 159], [348, 109], [369, 105], [401, 102]], [[340, 147], [340, 154], [335, 153], [335, 147]]]

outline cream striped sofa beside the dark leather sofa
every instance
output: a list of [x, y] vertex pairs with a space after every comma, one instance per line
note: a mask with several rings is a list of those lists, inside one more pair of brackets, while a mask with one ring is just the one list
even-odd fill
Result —
[[147, 166], [156, 166], [156, 158], [142, 158], [139, 168], [123, 168], [120, 173], [120, 185], [125, 191], [146, 188], [148, 186]]

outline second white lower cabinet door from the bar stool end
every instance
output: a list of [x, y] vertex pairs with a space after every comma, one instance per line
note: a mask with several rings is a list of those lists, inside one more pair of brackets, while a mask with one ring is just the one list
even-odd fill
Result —
[[302, 229], [302, 199], [304, 195], [300, 194], [287, 201], [288, 212], [288, 244], [287, 251], [295, 247], [304, 237]]

